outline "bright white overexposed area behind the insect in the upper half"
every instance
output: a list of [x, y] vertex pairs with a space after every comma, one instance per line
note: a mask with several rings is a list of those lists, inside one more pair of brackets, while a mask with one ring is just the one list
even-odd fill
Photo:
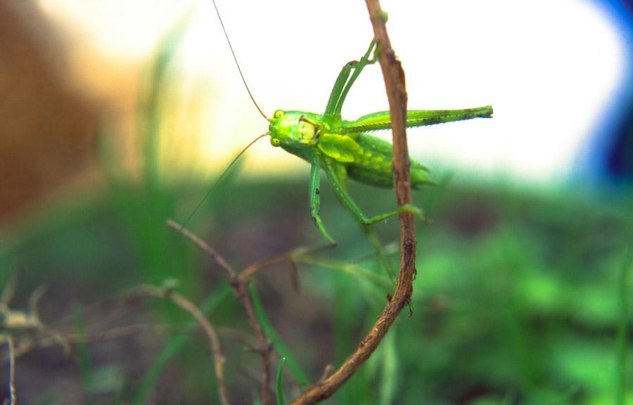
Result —
[[[277, 108], [322, 112], [340, 68], [359, 58], [372, 36], [360, 0], [217, 1], [251, 91], [269, 115]], [[204, 141], [191, 153], [222, 167], [267, 131], [243, 89], [210, 0], [40, 3], [75, 41], [120, 60], [146, 60], [160, 35], [195, 8], [178, 63], [184, 94], [201, 103], [196, 110]], [[440, 172], [457, 167], [535, 183], [565, 179], [629, 69], [622, 35], [590, 1], [382, 5], [407, 74], [409, 108], [494, 107], [492, 120], [409, 132], [411, 155]], [[354, 119], [387, 109], [380, 69], [371, 67], [354, 85], [343, 115]], [[187, 117], [181, 118], [185, 125]], [[248, 156], [245, 166], [258, 170], [308, 169], [266, 141]]]

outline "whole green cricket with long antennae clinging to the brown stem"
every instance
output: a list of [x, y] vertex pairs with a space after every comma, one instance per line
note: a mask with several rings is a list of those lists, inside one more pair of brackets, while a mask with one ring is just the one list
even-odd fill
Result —
[[[335, 245], [334, 239], [326, 231], [319, 215], [319, 176], [323, 170], [333, 186], [340, 202], [347, 207], [358, 221], [366, 226], [392, 217], [400, 212], [412, 212], [422, 216], [422, 210], [413, 205], [403, 205], [396, 210], [368, 217], [356, 202], [347, 193], [347, 178], [360, 181], [371, 186], [391, 188], [393, 187], [393, 150], [391, 143], [383, 141], [369, 134], [373, 131], [391, 129], [389, 111], [381, 111], [364, 115], [357, 120], [348, 121], [341, 117], [343, 103], [354, 81], [362, 70], [378, 60], [379, 50], [376, 42], [371, 41], [369, 49], [360, 58], [346, 63], [340, 71], [332, 88], [328, 104], [323, 114], [308, 113], [298, 110], [276, 110], [271, 118], [267, 117], [259, 105], [255, 102], [248, 89], [248, 85], [242, 75], [239, 63], [231, 46], [229, 35], [226, 33], [224, 23], [219, 15], [215, 0], [215, 11], [222, 25], [224, 36], [233, 53], [238, 72], [242, 78], [248, 94], [255, 107], [269, 123], [268, 132], [252, 141], [240, 155], [248, 149], [252, 143], [264, 136], [270, 136], [272, 146], [283, 148], [302, 158], [312, 165], [309, 184], [310, 213], [312, 220], [323, 237], [331, 245]], [[372, 56], [373, 54], [373, 56]], [[370, 58], [370, 56], [372, 56]], [[486, 105], [477, 108], [465, 108], [461, 110], [408, 110], [407, 128], [422, 127], [424, 125], [441, 124], [461, 120], [471, 120], [478, 117], [492, 117], [492, 106]], [[237, 159], [236, 158], [236, 159]], [[420, 188], [433, 184], [428, 178], [428, 169], [411, 160], [411, 188]], [[234, 160], [235, 162], [235, 160]], [[234, 163], [231, 162], [231, 165]], [[228, 170], [229, 167], [226, 168]], [[224, 173], [226, 173], [226, 170]], [[222, 174], [222, 176], [224, 175]], [[220, 176], [219, 179], [222, 178]], [[219, 181], [218, 179], [218, 181]], [[216, 182], [217, 183], [217, 182]], [[208, 195], [208, 194], [207, 194]], [[197, 208], [196, 208], [197, 210]], [[195, 211], [194, 211], [195, 212]]]

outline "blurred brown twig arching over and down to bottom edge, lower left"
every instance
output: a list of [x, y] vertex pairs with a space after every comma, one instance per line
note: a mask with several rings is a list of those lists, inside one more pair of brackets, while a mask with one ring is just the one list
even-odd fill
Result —
[[222, 401], [222, 404], [228, 405], [229, 398], [226, 395], [226, 385], [224, 384], [224, 354], [222, 354], [222, 347], [220, 347], [217, 333], [205, 317], [205, 314], [203, 314], [202, 311], [193, 304], [193, 302], [166, 288], [157, 288], [152, 285], [142, 285], [135, 290], [133, 294], [170, 300], [181, 309], [184, 309], [184, 311], [187, 311], [194, 319], [196, 319], [196, 321], [198, 321], [200, 327], [203, 328], [207, 338], [209, 339], [209, 345], [211, 347], [211, 352], [213, 353], [213, 365], [215, 368], [215, 377], [217, 378], [220, 401]]

